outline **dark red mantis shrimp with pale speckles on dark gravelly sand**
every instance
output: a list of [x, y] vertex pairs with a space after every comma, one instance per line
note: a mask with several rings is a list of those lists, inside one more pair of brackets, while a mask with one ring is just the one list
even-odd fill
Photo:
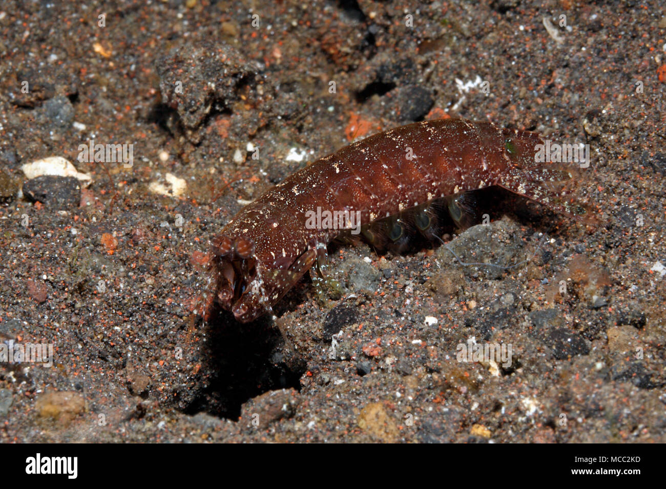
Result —
[[[545, 171], [534, 160], [540, 143], [533, 132], [440, 119], [374, 134], [321, 158], [248, 204], [224, 227], [218, 238], [228, 237], [231, 243], [242, 238], [254, 248], [248, 268], [226, 247], [213, 247], [216, 293], [224, 295], [218, 303], [240, 321], [270, 311], [312, 266], [318, 247], [339, 233], [305, 226], [306, 213], [317, 207], [358, 211], [361, 223], [370, 224], [452, 194], [500, 185], [563, 209], [531, 176]], [[233, 260], [235, 275], [245, 268], [254, 273], [240, 288], [238, 277], [228, 272], [226, 277], [234, 275], [229, 280], [222, 273], [225, 266], [230, 270], [224, 263]], [[224, 287], [226, 293], [220, 294]]]

